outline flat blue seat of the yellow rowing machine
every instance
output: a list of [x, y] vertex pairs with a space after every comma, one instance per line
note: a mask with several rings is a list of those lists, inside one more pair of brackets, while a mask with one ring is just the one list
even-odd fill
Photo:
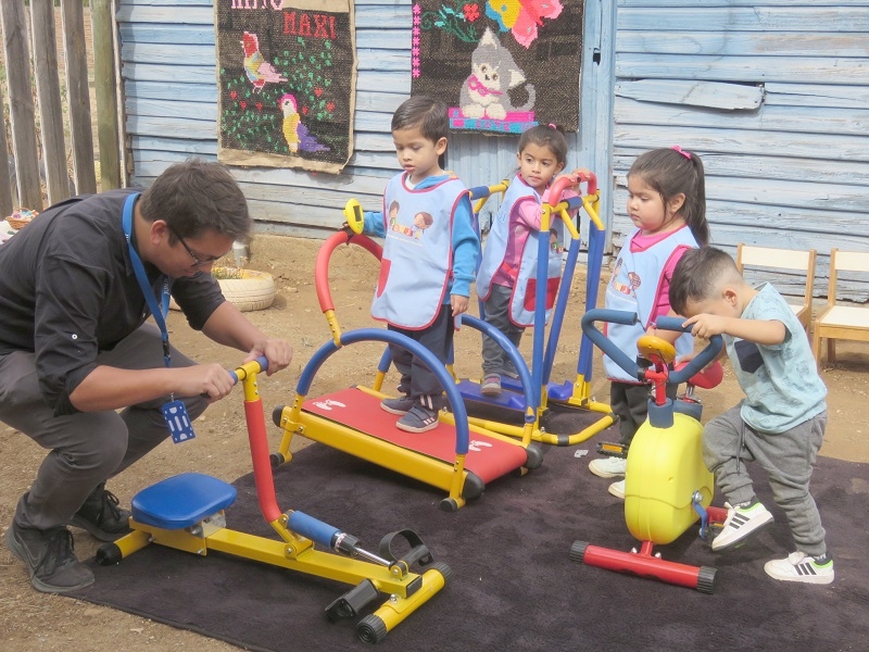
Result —
[[196, 525], [236, 502], [236, 489], [201, 473], [182, 473], [139, 491], [131, 501], [134, 521], [175, 530]]

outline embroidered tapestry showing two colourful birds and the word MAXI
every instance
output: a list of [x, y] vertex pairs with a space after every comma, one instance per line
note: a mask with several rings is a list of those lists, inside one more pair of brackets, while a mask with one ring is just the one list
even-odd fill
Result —
[[338, 173], [353, 153], [352, 0], [216, 0], [217, 158]]

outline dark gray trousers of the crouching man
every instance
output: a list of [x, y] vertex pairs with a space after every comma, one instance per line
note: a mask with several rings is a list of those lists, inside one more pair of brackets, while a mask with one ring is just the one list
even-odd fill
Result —
[[[125, 369], [163, 365], [160, 331], [146, 324], [112, 351], [97, 356], [97, 364]], [[172, 349], [173, 366], [196, 364]], [[180, 398], [180, 397], [176, 397]], [[190, 419], [207, 408], [202, 398], [180, 398]], [[14, 352], [0, 359], [0, 421], [21, 430], [50, 452], [37, 472], [30, 490], [18, 501], [20, 527], [48, 529], [65, 525], [91, 491], [151, 451], [168, 436], [161, 397], [115, 412], [79, 412], [54, 416], [42, 401], [34, 354]]]

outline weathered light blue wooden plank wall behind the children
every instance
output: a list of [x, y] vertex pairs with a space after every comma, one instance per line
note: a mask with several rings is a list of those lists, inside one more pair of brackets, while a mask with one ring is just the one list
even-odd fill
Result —
[[[398, 167], [391, 114], [411, 89], [411, 4], [355, 2], [356, 145], [342, 174], [237, 168], [264, 230], [320, 237], [350, 197], [379, 204]], [[118, 0], [133, 183], [216, 155], [213, 12], [210, 0]], [[585, 13], [568, 167], [597, 175], [610, 252], [630, 228], [630, 163], [676, 143], [704, 159], [716, 244], [815, 246], [819, 294], [831, 247], [869, 250], [869, 0], [587, 0]], [[453, 135], [449, 166], [469, 186], [496, 183], [515, 171], [516, 142]]]

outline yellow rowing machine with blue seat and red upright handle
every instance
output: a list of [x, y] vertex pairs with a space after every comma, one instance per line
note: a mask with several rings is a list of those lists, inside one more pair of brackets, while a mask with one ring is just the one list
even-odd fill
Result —
[[[244, 413], [260, 507], [280, 540], [228, 529], [225, 510], [235, 502], [235, 488], [211, 476], [186, 473], [140, 491], [131, 503], [133, 531], [101, 547], [97, 561], [102, 565], [116, 564], [149, 543], [156, 543], [199, 555], [223, 552], [333, 579], [353, 588], [326, 607], [326, 615], [332, 620], [357, 617], [364, 607], [382, 594], [387, 595], [378, 609], [356, 625], [356, 634], [363, 641], [381, 641], [387, 632], [444, 587], [451, 576], [450, 567], [433, 562], [428, 548], [412, 530], [392, 535], [410, 543], [406, 554], [401, 559], [383, 559], [382, 551], [390, 549], [389, 537], [381, 541], [381, 555], [377, 555], [363, 549], [356, 537], [313, 516], [292, 510], [281, 512], [275, 494], [263, 404], [256, 387], [256, 374], [266, 364], [261, 358], [230, 373], [244, 389]], [[330, 552], [317, 550], [315, 544]], [[413, 572], [416, 565], [428, 566], [428, 569]]]

